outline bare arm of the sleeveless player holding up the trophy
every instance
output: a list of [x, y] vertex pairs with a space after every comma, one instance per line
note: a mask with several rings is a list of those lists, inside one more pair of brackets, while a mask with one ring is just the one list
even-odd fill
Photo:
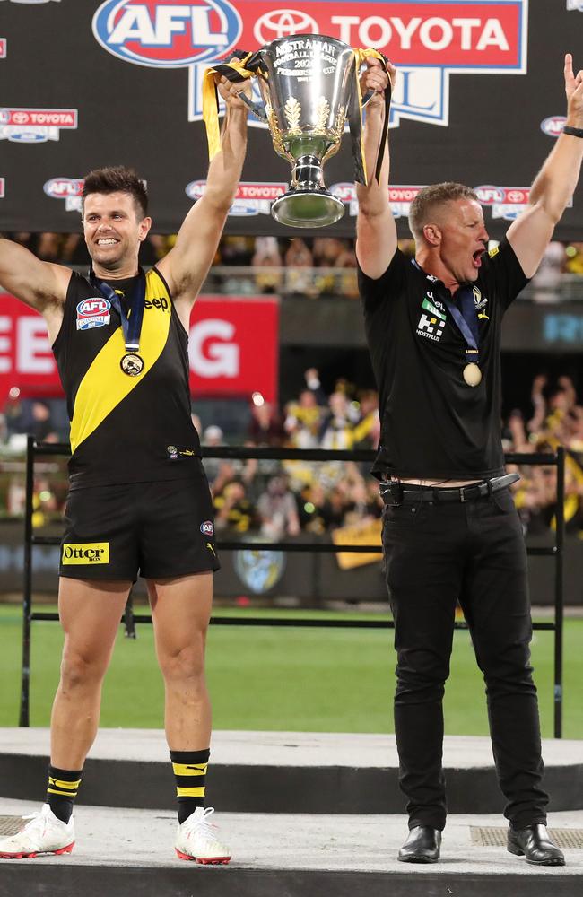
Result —
[[204, 194], [187, 214], [175, 246], [158, 267], [169, 283], [178, 314], [184, 320], [208, 273], [216, 253], [227, 213], [235, 196], [247, 149], [248, 108], [237, 93], [240, 83], [223, 76], [218, 85], [227, 102], [221, 150], [209, 166]]

